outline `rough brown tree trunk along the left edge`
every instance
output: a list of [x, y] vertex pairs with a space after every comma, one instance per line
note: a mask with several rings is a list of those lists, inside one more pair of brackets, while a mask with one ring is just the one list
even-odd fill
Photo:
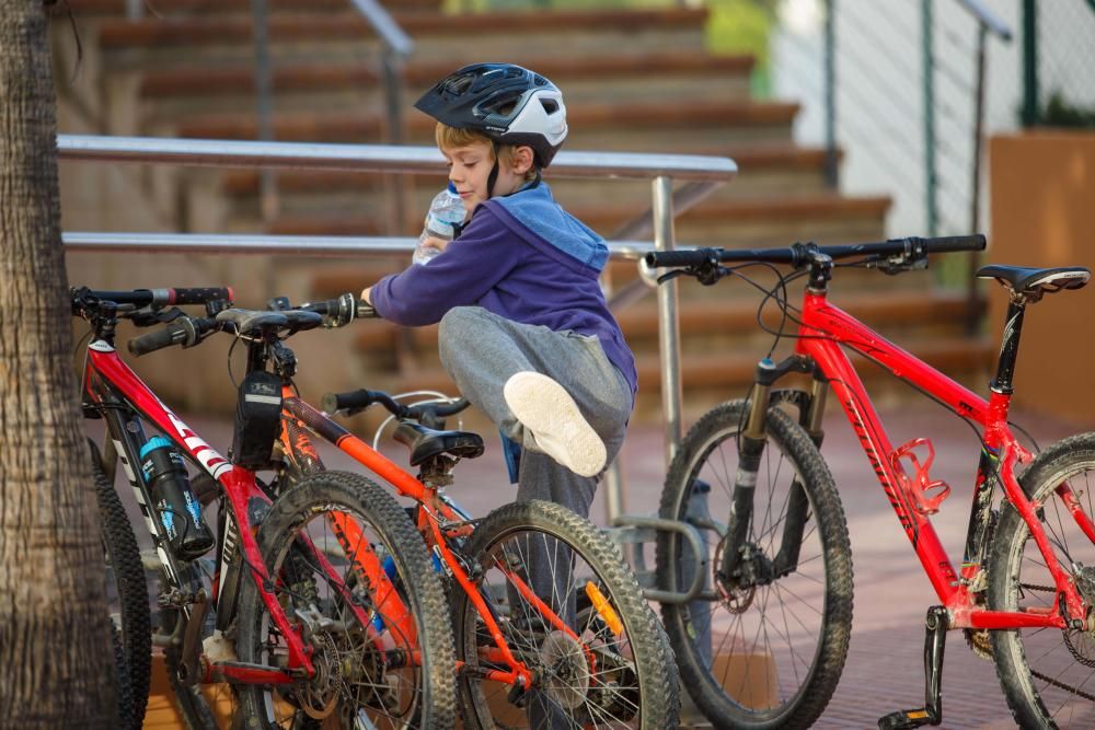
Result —
[[0, 0], [0, 722], [116, 728], [42, 0]]

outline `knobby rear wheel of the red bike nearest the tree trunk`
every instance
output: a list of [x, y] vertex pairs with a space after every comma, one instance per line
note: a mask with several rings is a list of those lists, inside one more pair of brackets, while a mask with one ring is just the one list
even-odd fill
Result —
[[[347, 537], [357, 529], [360, 540]], [[457, 670], [440, 576], [388, 493], [356, 474], [310, 476], [278, 496], [258, 542], [276, 577], [273, 590], [290, 622], [302, 627], [316, 673], [284, 687], [241, 686], [249, 727], [453, 727]], [[351, 580], [362, 557], [384, 566], [402, 601], [378, 600], [368, 580]], [[327, 580], [319, 558], [351, 586], [350, 600], [368, 614], [368, 625]], [[416, 639], [400, 628], [404, 610]], [[237, 650], [244, 662], [280, 665], [287, 658], [253, 580], [244, 581], [240, 596]]]

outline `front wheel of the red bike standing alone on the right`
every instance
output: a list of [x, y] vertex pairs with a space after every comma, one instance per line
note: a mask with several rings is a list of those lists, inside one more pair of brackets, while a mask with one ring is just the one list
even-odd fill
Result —
[[701, 596], [665, 603], [661, 616], [689, 694], [717, 727], [805, 728], [829, 704], [848, 656], [848, 524], [817, 448], [791, 416], [770, 408], [739, 569], [721, 577], [748, 408], [731, 401], [708, 412], [669, 466], [660, 515], [694, 525], [706, 554], [696, 560], [679, 533], [658, 533], [664, 588], [688, 590], [694, 571], [703, 572]]

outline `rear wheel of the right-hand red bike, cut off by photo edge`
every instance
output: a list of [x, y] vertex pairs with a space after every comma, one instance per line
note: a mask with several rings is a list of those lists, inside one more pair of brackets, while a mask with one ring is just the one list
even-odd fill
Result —
[[[1095, 517], [1095, 433], [1054, 443], [1019, 478], [1061, 567], [1088, 605], [1095, 602], [1095, 545], [1054, 491], [1068, 485], [1088, 519]], [[994, 611], [1057, 612], [1053, 579], [1030, 529], [1011, 505], [1001, 510], [989, 563]], [[1091, 618], [1088, 618], [1088, 624]], [[1023, 728], [1095, 725], [1095, 630], [1024, 628], [990, 631], [996, 675]]]

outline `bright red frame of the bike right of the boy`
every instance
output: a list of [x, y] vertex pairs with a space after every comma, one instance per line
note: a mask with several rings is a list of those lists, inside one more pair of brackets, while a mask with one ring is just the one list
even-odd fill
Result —
[[[815, 363], [820, 375], [828, 381], [828, 385], [840, 401], [883, 490], [920, 557], [924, 572], [932, 581], [940, 600], [952, 612], [950, 626], [975, 629], [1038, 626], [1063, 628], [1067, 625], [1067, 617], [1057, 612], [989, 611], [976, 604], [969, 587], [982, 566], [976, 561], [968, 561], [964, 564], [960, 573], [955, 571], [929, 515], [924, 513], [925, 510], [917, 509], [913, 505], [914, 495], [910, 494], [908, 487], [909, 477], [904, 474], [899, 460], [895, 457], [898, 452], [890, 443], [881, 419], [841, 345], [875, 361], [895, 376], [929, 393], [954, 413], [983, 428], [987, 451], [982, 454], [978, 468], [975, 508], [977, 495], [986, 487], [987, 479], [991, 479], [994, 472], [1007, 500], [1029, 526], [1030, 534], [1053, 576], [1058, 594], [1064, 596], [1070, 616], [1085, 616], [1086, 604], [1076, 591], [1076, 587], [1069, 580], [1068, 573], [1059, 565], [1041, 523], [1035, 515], [1038, 505], [1027, 498], [1015, 478], [1015, 464], [1029, 461], [1031, 454], [1016, 442], [1007, 426], [1011, 394], [993, 391], [986, 401], [829, 303], [823, 291], [807, 289], [800, 320], [795, 352]], [[1068, 486], [1062, 485], [1058, 494], [1070, 508], [1081, 529], [1088, 537], [1095, 540], [1095, 525], [1076, 507], [1075, 497]]]

